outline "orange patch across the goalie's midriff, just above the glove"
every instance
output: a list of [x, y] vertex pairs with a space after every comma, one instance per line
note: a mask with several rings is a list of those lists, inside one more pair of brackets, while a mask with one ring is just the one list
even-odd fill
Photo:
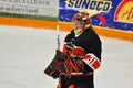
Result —
[[85, 51], [82, 47], [74, 46], [73, 51], [72, 51], [72, 55], [84, 56], [85, 55]]

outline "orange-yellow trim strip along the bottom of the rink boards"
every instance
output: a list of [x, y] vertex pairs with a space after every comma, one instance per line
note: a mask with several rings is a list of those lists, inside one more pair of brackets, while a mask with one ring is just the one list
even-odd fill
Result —
[[[57, 25], [60, 25], [61, 31], [69, 32], [72, 30], [72, 25], [70, 23], [17, 19], [17, 18], [0, 18], [0, 25], [38, 28], [42, 30], [43, 29], [55, 30]], [[133, 42], [133, 32], [120, 31], [114, 29], [105, 29], [100, 26], [93, 26], [93, 28], [99, 35]]]

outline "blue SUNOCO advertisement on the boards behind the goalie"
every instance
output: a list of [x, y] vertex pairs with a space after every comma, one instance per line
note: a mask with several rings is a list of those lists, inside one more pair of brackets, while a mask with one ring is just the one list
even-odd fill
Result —
[[79, 11], [90, 14], [92, 25], [133, 31], [133, 0], [60, 0], [59, 21], [71, 22]]

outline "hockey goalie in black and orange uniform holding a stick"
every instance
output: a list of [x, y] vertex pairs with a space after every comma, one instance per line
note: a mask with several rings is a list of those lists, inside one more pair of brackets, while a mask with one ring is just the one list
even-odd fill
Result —
[[101, 40], [91, 25], [89, 13], [78, 12], [72, 24], [63, 50], [57, 50], [44, 73], [60, 78], [58, 88], [94, 88], [94, 70], [101, 65]]

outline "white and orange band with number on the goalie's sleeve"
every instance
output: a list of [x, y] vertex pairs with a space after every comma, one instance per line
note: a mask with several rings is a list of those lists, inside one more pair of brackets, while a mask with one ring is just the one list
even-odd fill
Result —
[[100, 67], [100, 61], [94, 54], [86, 54], [83, 59], [93, 70]]

